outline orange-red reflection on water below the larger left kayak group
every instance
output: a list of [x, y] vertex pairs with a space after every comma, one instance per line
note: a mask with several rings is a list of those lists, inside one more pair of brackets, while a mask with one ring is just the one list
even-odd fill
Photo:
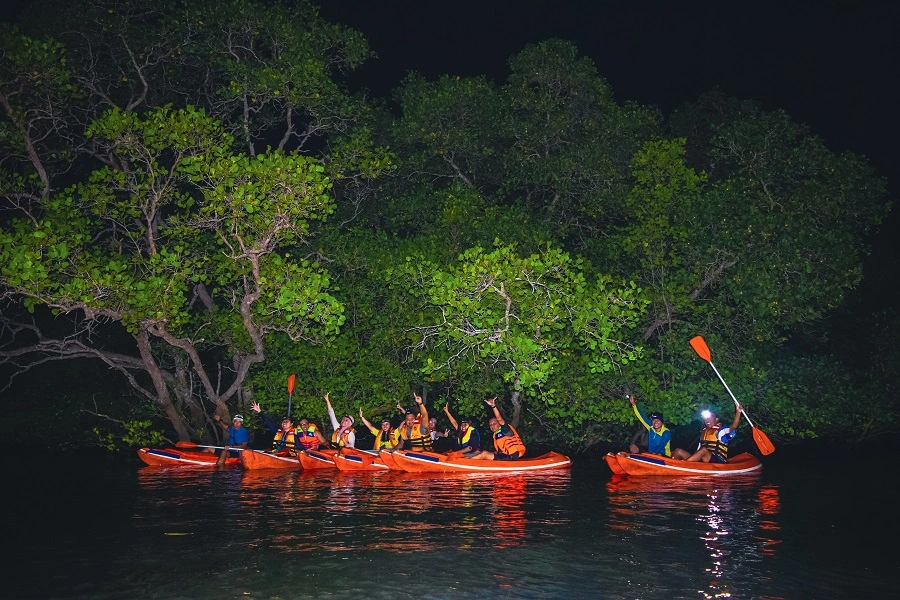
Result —
[[[562, 536], [571, 475], [397, 471], [221, 471], [148, 467], [139, 485], [153, 506], [137, 518], [179, 521], [182, 504], [208, 505], [234, 524], [234, 542], [284, 553], [422, 552], [513, 548]], [[166, 488], [160, 494], [160, 488]], [[556, 507], [554, 508], [554, 504]], [[175, 525], [169, 525], [169, 528]], [[196, 526], [195, 526], [196, 528]]]

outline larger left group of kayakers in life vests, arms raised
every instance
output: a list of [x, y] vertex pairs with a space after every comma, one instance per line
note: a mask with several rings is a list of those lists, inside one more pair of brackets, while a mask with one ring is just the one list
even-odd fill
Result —
[[[432, 452], [435, 450], [435, 442], [439, 437], [449, 437], [450, 430], [440, 431], [437, 428], [437, 419], [429, 417], [428, 408], [422, 397], [414, 394], [415, 409], [404, 408], [399, 403], [397, 407], [403, 413], [403, 421], [394, 426], [390, 417], [381, 419], [379, 427], [375, 427], [363, 415], [359, 409], [359, 418], [368, 431], [375, 437], [372, 449], [374, 450], [413, 450], [420, 452]], [[459, 421], [450, 412], [449, 404], [444, 405], [444, 413], [456, 432], [451, 451], [461, 457], [472, 460], [517, 460], [525, 454], [525, 444], [518, 432], [503, 418], [497, 407], [497, 398], [487, 398], [485, 404], [491, 409], [492, 416], [488, 421], [488, 428], [494, 442], [493, 451], [483, 450], [481, 447], [481, 435], [472, 426], [468, 418]], [[251, 409], [258, 413], [266, 428], [273, 434], [271, 452], [288, 453], [295, 456], [304, 450], [316, 450], [319, 448], [355, 448], [356, 447], [356, 420], [349, 414], [337, 418], [334, 407], [331, 405], [329, 394], [325, 394], [325, 405], [331, 420], [333, 432], [327, 439], [319, 428], [302, 418], [294, 425], [290, 416], [281, 420], [281, 426], [275, 424], [271, 417], [262, 412], [259, 403], [251, 403]], [[219, 421], [219, 419], [216, 419]], [[243, 417], [235, 415], [233, 424], [229, 428], [224, 423], [220, 424], [228, 429], [228, 440], [222, 456], [228, 455], [229, 448], [246, 448], [249, 443], [249, 433], [243, 427]], [[245, 439], [246, 438], [246, 439]], [[224, 460], [224, 459], [223, 459]]]

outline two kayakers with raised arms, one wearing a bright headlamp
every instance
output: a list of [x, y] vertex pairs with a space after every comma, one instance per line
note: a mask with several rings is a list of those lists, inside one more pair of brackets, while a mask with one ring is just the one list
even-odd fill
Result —
[[[691, 462], [712, 462], [725, 463], [728, 461], [728, 444], [737, 434], [737, 428], [741, 421], [741, 412], [743, 409], [740, 404], [736, 404], [734, 411], [734, 420], [729, 427], [723, 427], [719, 416], [715, 411], [704, 410], [702, 413], [704, 419], [704, 427], [700, 432], [700, 440], [697, 449], [689, 452], [682, 448], [672, 450], [672, 432], [663, 424], [663, 415], [660, 412], [651, 412], [645, 415], [644, 411], [637, 405], [634, 396], [629, 395], [628, 401], [637, 416], [638, 421], [647, 430], [647, 447], [638, 448], [635, 443], [629, 448], [632, 454], [646, 451], [650, 454], [659, 454], [678, 460], [687, 460]], [[632, 440], [634, 442], [634, 440]]]

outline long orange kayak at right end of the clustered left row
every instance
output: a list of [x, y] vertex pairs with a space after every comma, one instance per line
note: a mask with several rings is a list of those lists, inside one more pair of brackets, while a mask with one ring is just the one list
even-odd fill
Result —
[[411, 473], [522, 473], [546, 469], [568, 469], [572, 461], [559, 452], [548, 452], [537, 458], [519, 460], [472, 460], [435, 452], [400, 450], [393, 453], [394, 462]]

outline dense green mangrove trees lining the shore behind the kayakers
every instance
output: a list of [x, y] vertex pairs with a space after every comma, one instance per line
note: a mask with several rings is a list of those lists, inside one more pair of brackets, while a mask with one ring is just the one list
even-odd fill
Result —
[[778, 448], [891, 432], [900, 314], [850, 312], [892, 205], [863, 155], [717, 90], [617, 100], [567, 40], [385, 98], [348, 80], [377, 51], [303, 1], [0, 24], [13, 442], [220, 445], [251, 402], [321, 426], [325, 394], [421, 394], [577, 456], [628, 439], [633, 394], [686, 444], [733, 414], [700, 335]]

